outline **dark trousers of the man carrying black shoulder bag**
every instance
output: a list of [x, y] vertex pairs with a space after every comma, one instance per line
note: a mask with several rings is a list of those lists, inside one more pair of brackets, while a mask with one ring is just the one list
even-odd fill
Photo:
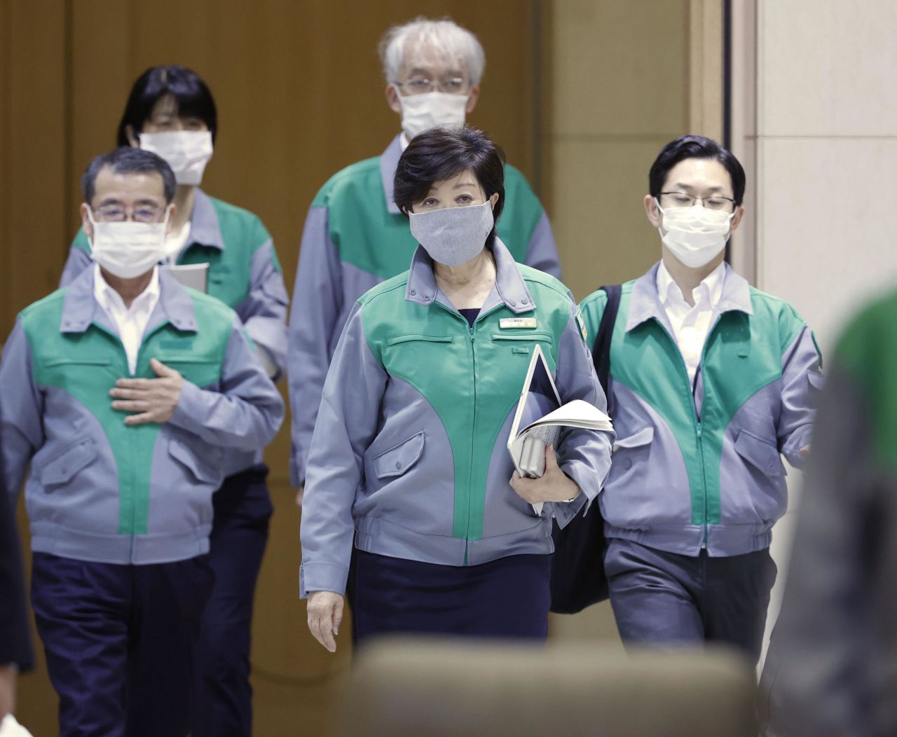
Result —
[[718, 641], [760, 659], [776, 564], [762, 550], [727, 558], [677, 555], [612, 538], [605, 574], [623, 642]]

